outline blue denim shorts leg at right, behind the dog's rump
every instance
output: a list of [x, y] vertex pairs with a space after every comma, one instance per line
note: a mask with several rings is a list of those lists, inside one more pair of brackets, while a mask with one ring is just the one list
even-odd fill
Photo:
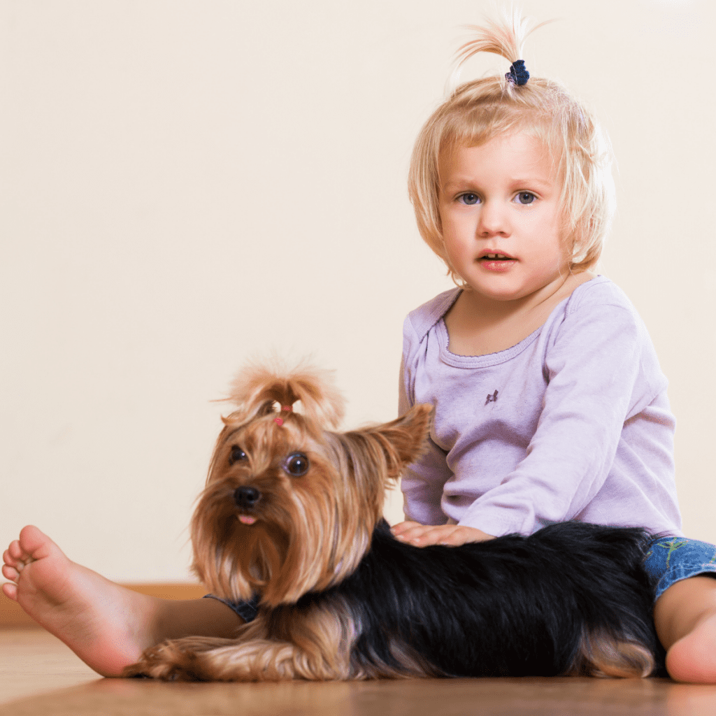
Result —
[[685, 537], [657, 538], [644, 559], [644, 569], [657, 585], [656, 600], [674, 582], [697, 574], [716, 576], [716, 546]]

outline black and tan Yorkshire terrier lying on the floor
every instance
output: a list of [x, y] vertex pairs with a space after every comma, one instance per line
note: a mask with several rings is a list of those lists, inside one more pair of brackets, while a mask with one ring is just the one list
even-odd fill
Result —
[[646, 677], [662, 666], [649, 533], [569, 522], [411, 546], [382, 507], [420, 456], [430, 405], [335, 432], [342, 398], [313, 369], [248, 370], [231, 398], [192, 519], [193, 569], [220, 598], [259, 595], [258, 616], [233, 639], [158, 644], [126, 676]]

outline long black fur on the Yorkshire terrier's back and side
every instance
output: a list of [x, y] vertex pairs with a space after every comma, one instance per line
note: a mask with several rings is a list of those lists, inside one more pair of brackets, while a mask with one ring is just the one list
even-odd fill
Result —
[[574, 673], [589, 634], [641, 644], [662, 667], [643, 567], [652, 540], [639, 528], [568, 522], [419, 548], [382, 522], [354, 574], [296, 606], [349, 605], [358, 671], [400, 673], [408, 654], [435, 676], [556, 676]]

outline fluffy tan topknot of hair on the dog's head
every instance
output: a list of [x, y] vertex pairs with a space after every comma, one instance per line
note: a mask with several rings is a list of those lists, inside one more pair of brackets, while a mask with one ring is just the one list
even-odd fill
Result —
[[231, 383], [228, 400], [237, 406], [229, 420], [243, 422], [268, 403], [293, 406], [301, 401], [301, 411], [318, 425], [337, 428], [343, 420], [345, 399], [334, 384], [333, 371], [301, 362], [286, 369], [276, 360], [247, 363]]

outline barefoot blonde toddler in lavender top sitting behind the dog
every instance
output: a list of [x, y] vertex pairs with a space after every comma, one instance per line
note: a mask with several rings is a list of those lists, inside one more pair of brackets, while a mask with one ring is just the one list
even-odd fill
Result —
[[[613, 211], [608, 147], [560, 85], [529, 77], [523, 29], [477, 29], [463, 59], [493, 52], [510, 71], [458, 87], [415, 146], [418, 226], [458, 289], [405, 321], [400, 407], [430, 402], [435, 421], [394, 533], [425, 546], [569, 519], [647, 527], [665, 536], [647, 569], [667, 669], [713, 683], [716, 548], [679, 531], [667, 382], [626, 296], [591, 273]], [[253, 613], [124, 589], [32, 526], [4, 561], [5, 594], [105, 676], [163, 639], [231, 637]]]

